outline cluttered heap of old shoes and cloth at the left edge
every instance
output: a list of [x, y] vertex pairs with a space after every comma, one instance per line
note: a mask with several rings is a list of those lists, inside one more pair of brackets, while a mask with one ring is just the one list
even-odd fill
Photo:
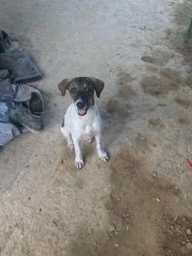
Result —
[[19, 43], [0, 30], [0, 146], [27, 130], [43, 129], [42, 94], [23, 84], [41, 78]]

